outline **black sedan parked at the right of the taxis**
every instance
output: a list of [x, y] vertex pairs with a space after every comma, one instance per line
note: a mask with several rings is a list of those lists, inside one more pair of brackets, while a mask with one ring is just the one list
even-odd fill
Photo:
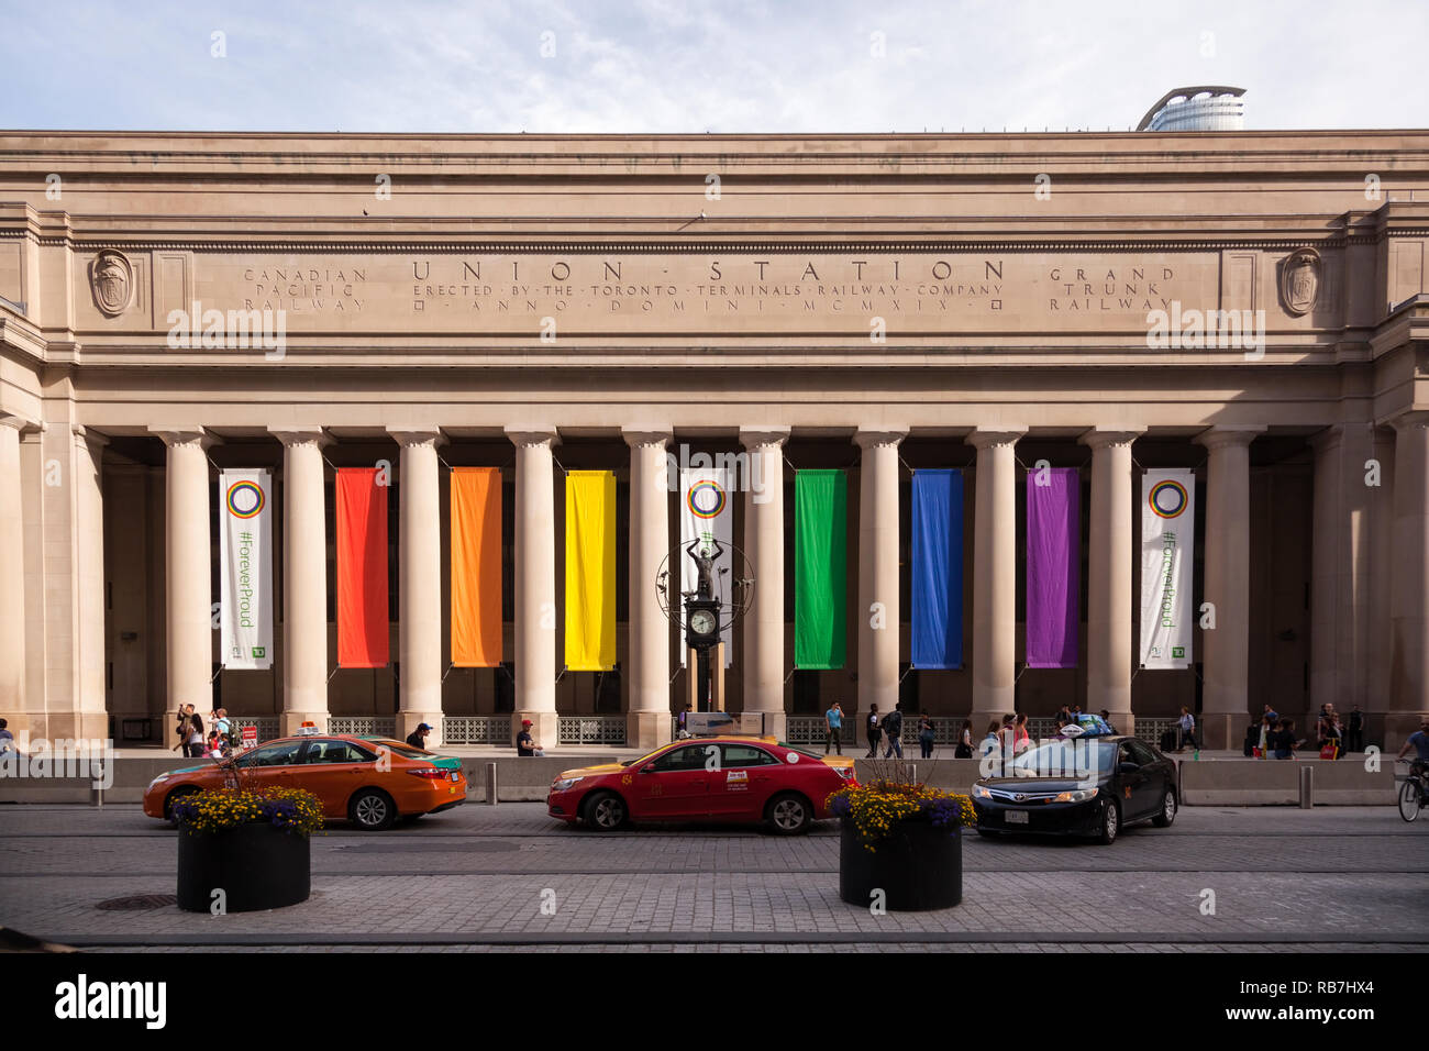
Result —
[[1110, 844], [1123, 825], [1176, 819], [1176, 766], [1150, 745], [1127, 736], [1043, 741], [1002, 762], [983, 761], [995, 776], [973, 784], [979, 835], [1036, 832], [1093, 837]]

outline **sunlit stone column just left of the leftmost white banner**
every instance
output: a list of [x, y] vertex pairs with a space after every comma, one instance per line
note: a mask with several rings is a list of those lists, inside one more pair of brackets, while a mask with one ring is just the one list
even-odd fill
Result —
[[[209, 455], [203, 428], [151, 428], [169, 446], [164, 562], [169, 704], [213, 709], [213, 552], [209, 546]], [[173, 744], [169, 738], [169, 744]]]

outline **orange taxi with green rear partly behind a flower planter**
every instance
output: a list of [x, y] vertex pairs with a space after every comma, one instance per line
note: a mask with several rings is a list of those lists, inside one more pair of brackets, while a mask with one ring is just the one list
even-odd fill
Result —
[[229, 759], [160, 774], [144, 791], [144, 814], [167, 819], [180, 795], [223, 788], [230, 762], [259, 785], [306, 788], [322, 799], [329, 821], [369, 831], [466, 802], [460, 759], [400, 741], [337, 734], [266, 741]]

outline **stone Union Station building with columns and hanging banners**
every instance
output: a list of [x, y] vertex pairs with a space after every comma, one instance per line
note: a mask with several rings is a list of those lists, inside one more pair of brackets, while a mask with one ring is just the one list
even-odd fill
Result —
[[0, 133], [0, 716], [653, 745], [693, 529], [787, 741], [1398, 746], [1426, 256], [1429, 132]]

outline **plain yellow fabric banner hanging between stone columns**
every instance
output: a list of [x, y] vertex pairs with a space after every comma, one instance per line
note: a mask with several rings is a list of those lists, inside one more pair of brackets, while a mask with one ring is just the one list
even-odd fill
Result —
[[566, 668], [616, 663], [616, 476], [566, 472]]

